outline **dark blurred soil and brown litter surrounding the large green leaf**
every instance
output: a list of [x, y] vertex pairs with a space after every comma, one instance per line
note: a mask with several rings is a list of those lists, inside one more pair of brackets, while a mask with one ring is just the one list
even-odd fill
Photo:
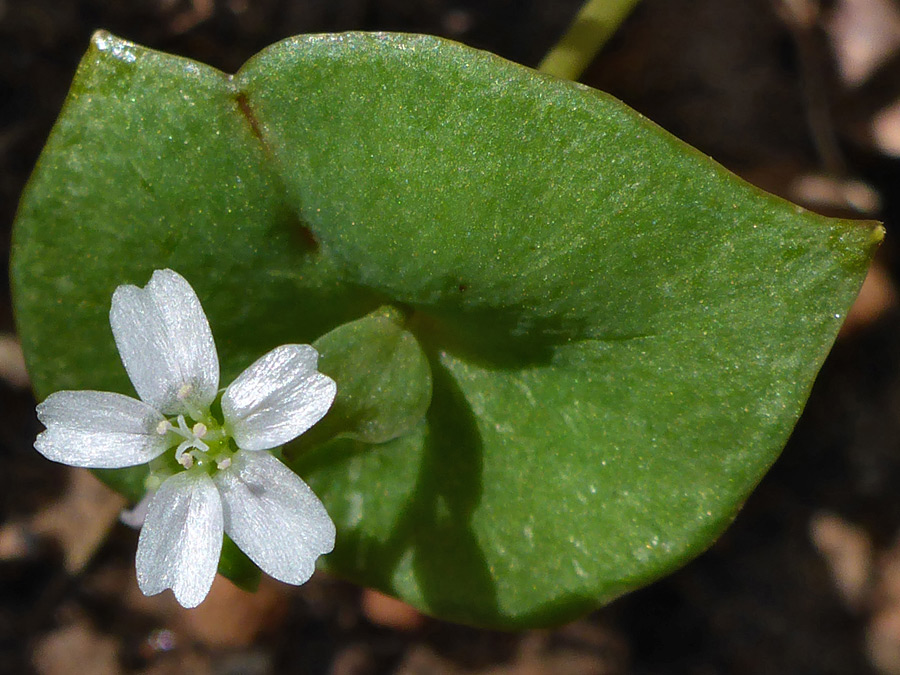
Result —
[[[577, 0], [0, 0], [0, 255], [88, 40], [233, 72], [281, 38], [432, 33], [535, 66]], [[900, 673], [900, 0], [643, 0], [581, 80], [749, 181], [887, 238], [793, 438], [682, 571], [555, 630], [423, 617], [317, 575], [197, 610], [134, 579], [137, 533], [40, 429], [0, 282], [0, 673]], [[896, 237], [900, 240], [900, 237]]]

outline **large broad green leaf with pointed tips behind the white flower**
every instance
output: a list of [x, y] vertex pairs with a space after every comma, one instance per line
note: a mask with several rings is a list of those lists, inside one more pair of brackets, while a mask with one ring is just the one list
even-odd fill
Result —
[[[23, 197], [12, 275], [40, 397], [132, 392], [109, 299], [155, 268], [196, 288], [223, 383], [398, 307], [430, 366], [425, 419], [287, 454], [337, 524], [325, 564], [516, 627], [646, 584], [727, 526], [880, 238], [604, 94], [437, 38], [299, 37], [229, 78], [100, 33]], [[407, 357], [379, 349], [338, 375], [357, 401], [363, 379], [400, 378]]]

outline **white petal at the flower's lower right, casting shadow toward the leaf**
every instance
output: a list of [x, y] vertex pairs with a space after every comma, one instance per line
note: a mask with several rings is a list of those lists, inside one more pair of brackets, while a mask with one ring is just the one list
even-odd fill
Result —
[[225, 532], [266, 574], [302, 584], [334, 548], [334, 523], [315, 493], [267, 452], [238, 452], [213, 478]]

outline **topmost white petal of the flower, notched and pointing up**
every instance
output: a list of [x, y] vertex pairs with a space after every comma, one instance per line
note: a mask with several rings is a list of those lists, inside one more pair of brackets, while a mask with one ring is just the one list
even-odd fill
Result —
[[184, 277], [157, 270], [145, 288], [119, 286], [109, 323], [142, 400], [168, 415], [209, 407], [219, 388], [219, 359], [203, 307]]

